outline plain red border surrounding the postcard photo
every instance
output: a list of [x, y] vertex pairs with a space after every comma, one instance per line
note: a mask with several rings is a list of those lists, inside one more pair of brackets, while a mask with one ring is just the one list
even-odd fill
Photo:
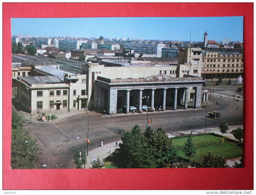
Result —
[[[3, 3], [3, 189], [253, 189], [253, 3]], [[11, 18], [244, 16], [241, 169], [10, 170]], [[250, 105], [250, 106], [248, 106]]]

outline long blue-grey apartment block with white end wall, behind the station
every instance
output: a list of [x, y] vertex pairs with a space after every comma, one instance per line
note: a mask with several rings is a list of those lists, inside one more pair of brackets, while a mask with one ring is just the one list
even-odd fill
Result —
[[125, 50], [134, 50], [137, 54], [155, 54], [158, 57], [162, 56], [162, 48], [165, 44], [162, 43], [124, 43]]

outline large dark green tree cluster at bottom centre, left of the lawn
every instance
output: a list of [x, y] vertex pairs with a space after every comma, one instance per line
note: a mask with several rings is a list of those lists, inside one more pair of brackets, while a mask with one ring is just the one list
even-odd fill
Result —
[[161, 128], [153, 131], [147, 127], [142, 133], [135, 125], [124, 134], [117, 151], [125, 168], [166, 168], [177, 159], [176, 148]]

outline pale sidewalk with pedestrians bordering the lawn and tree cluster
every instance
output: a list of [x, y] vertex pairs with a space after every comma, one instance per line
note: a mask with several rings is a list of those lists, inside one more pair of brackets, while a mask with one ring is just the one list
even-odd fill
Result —
[[[234, 129], [237, 129], [238, 127], [242, 127], [243, 128], [243, 125], [239, 125], [239, 126], [232, 126], [230, 127], [230, 130], [229, 132], [231, 132], [232, 130]], [[189, 135], [191, 133], [191, 130], [188, 130], [188, 131], [180, 131], [181, 134], [185, 134], [185, 135]], [[199, 130], [192, 130], [192, 134], [200, 134], [200, 133], [205, 133], [205, 129], [199, 129]], [[206, 130], [206, 133], [216, 133], [216, 134], [219, 134], [219, 135], [222, 135], [221, 132], [219, 132], [219, 128], [210, 128], [210, 129], [207, 129]], [[178, 132], [174, 132], [174, 133], [167, 133], [168, 137], [172, 138], [172, 137], [176, 137], [178, 136]], [[233, 135], [231, 133], [225, 133], [223, 135], [224, 137], [227, 137], [227, 138], [230, 138], [230, 139], [234, 139]], [[117, 141], [118, 144], [121, 142], [121, 141]], [[90, 168], [90, 165], [91, 165], [91, 162], [93, 161], [93, 158], [95, 157], [96, 159], [99, 158], [100, 161], [103, 161], [103, 159], [105, 159], [106, 157], [108, 157], [110, 155], [110, 148], [111, 148], [111, 151], [114, 152], [117, 148], [119, 147], [116, 147], [116, 142], [112, 142], [112, 143], [109, 143], [109, 144], [104, 144], [103, 147], [98, 147], [92, 151], [89, 151], [89, 155], [87, 156], [87, 164], [85, 164], [85, 169], [89, 169]], [[227, 164], [232, 166], [234, 164], [234, 162], [239, 162], [239, 159], [240, 158], [235, 158], [235, 159], [228, 159], [227, 160]], [[84, 167], [84, 165], [83, 165]]]

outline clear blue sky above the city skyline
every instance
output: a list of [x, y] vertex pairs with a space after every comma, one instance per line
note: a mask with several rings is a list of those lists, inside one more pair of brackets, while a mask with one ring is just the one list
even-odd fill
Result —
[[12, 18], [12, 35], [243, 41], [243, 17]]

